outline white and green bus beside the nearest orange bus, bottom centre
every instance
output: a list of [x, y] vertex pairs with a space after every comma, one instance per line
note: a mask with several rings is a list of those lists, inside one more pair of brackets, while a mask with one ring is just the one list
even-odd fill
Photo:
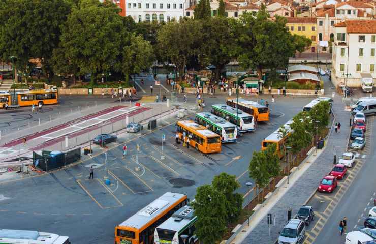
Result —
[[[195, 232], [197, 217], [191, 206], [184, 206], [154, 231], [154, 244], [194, 244], [198, 242]], [[187, 235], [185, 242], [181, 235]]]

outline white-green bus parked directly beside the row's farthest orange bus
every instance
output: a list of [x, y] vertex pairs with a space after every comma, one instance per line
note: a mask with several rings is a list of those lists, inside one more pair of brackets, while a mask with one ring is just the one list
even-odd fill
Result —
[[211, 106], [211, 113], [237, 125], [238, 132], [240, 133], [255, 130], [255, 118], [240, 109], [238, 109], [238, 113], [236, 114], [236, 109], [231, 106], [214, 104]]

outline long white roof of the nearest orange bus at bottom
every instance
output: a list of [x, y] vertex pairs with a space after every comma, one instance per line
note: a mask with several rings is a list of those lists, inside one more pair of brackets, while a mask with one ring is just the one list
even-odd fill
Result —
[[128, 218], [126, 221], [119, 224], [119, 226], [128, 226], [136, 229], [141, 229], [149, 221], [154, 219], [159, 214], [162, 214], [166, 209], [181, 198], [186, 197], [184, 194], [166, 192], [159, 198], [152, 201], [149, 205], [142, 208], [136, 214]]

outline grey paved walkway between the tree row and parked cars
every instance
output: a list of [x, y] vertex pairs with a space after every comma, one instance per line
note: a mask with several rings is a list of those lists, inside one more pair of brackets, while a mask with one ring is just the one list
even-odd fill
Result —
[[[315, 160], [311, 166], [302, 174], [287, 193], [276, 202], [270, 213], [272, 214], [274, 225], [271, 228], [270, 235], [267, 225], [266, 214], [261, 222], [255, 223], [254, 228], [249, 229], [248, 235], [239, 243], [267, 244], [275, 243], [278, 238], [278, 231], [283, 229], [287, 222], [287, 210], [292, 209], [295, 216], [299, 208], [308, 200], [311, 194], [317, 189], [318, 183], [322, 177], [328, 174], [333, 166], [333, 150], [336, 151], [337, 157], [340, 156], [347, 147], [350, 133], [349, 112], [344, 111], [344, 103], [339, 96], [334, 98], [333, 112], [336, 117], [335, 121], [341, 123], [341, 132], [335, 134], [331, 130], [330, 136], [326, 141], [327, 145], [322, 154]], [[241, 242], [242, 241], [242, 242]]]

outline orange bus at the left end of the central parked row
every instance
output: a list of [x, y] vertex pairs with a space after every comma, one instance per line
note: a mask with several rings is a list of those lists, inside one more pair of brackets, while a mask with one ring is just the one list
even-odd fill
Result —
[[197, 124], [193, 120], [182, 120], [176, 123], [179, 139], [185, 141], [190, 138], [190, 145], [204, 154], [221, 152], [220, 135]]

